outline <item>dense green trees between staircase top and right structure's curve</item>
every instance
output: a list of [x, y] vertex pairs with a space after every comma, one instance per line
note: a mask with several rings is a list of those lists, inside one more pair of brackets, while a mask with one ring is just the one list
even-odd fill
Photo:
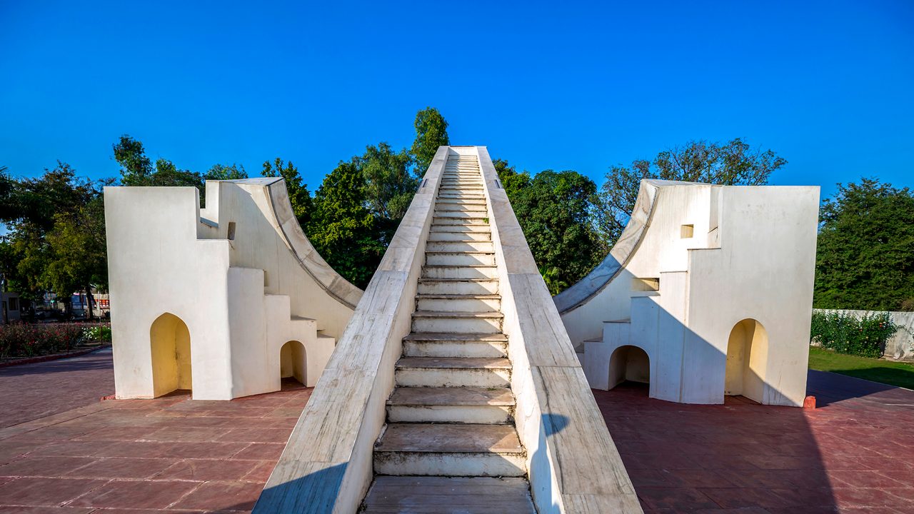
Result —
[[493, 164], [549, 292], [558, 294], [590, 273], [605, 254], [591, 218], [593, 181], [576, 171], [530, 177], [505, 160]]

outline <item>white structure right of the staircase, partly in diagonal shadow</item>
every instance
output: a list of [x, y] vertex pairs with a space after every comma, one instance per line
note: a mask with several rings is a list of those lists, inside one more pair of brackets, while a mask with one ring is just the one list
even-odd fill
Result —
[[818, 187], [643, 180], [610, 255], [554, 301], [590, 386], [802, 405]]

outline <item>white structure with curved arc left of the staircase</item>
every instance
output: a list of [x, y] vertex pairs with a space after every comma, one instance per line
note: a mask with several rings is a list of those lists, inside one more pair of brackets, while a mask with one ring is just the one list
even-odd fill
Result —
[[313, 386], [362, 291], [314, 251], [281, 178], [105, 187], [118, 398]]

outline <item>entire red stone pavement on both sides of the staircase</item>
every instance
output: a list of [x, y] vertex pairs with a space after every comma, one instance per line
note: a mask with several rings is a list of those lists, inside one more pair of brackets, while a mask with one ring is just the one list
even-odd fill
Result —
[[[0, 369], [0, 512], [250, 510], [311, 394], [99, 402], [111, 358], [93, 355]], [[814, 411], [683, 405], [633, 384], [594, 395], [648, 513], [914, 513], [914, 391], [817, 371], [809, 384]]]

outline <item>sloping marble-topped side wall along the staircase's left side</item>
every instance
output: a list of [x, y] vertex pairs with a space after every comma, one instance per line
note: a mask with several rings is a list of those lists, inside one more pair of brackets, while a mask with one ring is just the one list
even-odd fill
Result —
[[349, 514], [365, 497], [447, 156], [439, 147], [254, 512]]

